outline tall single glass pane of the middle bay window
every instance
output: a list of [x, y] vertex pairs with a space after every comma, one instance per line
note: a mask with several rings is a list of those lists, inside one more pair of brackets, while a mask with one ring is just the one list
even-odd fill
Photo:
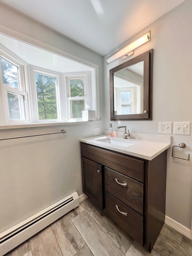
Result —
[[58, 119], [56, 78], [35, 73], [39, 119]]

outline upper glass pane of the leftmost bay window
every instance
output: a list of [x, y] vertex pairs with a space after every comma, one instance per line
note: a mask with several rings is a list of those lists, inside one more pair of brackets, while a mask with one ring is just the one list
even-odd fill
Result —
[[3, 84], [19, 89], [18, 67], [3, 58], [0, 58], [0, 60]]

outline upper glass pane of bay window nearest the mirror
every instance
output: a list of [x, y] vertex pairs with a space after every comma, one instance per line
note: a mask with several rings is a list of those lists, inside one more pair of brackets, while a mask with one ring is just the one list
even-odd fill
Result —
[[69, 79], [71, 97], [85, 96], [84, 92], [84, 79]]

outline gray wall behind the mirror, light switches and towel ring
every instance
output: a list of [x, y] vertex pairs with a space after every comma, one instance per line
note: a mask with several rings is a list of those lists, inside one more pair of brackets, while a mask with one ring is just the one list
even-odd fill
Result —
[[[109, 70], [123, 61], [107, 65], [106, 58], [148, 30], [151, 41], [134, 51], [137, 56], [151, 48], [153, 57], [153, 120], [113, 121], [130, 132], [158, 134], [158, 122], [192, 121], [192, 1], [186, 0], [103, 58], [105, 83], [105, 129], [110, 123]], [[183, 156], [192, 156], [192, 135], [172, 134], [172, 144], [186, 143]], [[178, 152], [179, 153], [179, 152]], [[192, 171], [190, 161], [172, 158], [168, 150], [166, 215], [191, 229]]]

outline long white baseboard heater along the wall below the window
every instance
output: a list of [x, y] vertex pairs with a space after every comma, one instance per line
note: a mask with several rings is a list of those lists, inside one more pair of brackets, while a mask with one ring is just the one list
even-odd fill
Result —
[[3, 231], [0, 234], [0, 256], [17, 247], [64, 214], [75, 209], [78, 205], [79, 196], [77, 192], [74, 192], [17, 225]]

